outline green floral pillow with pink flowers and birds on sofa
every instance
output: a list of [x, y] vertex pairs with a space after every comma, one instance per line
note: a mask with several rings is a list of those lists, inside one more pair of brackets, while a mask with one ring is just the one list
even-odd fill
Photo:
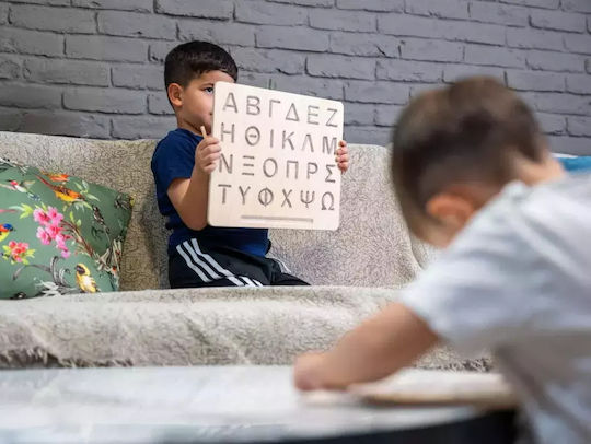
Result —
[[132, 200], [0, 157], [0, 299], [119, 289]]

